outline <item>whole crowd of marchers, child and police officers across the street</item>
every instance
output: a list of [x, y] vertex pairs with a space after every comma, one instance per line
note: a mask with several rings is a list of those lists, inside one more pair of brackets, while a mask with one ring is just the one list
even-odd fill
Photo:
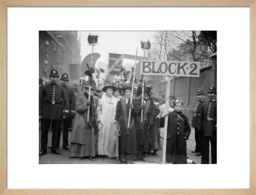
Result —
[[[47, 153], [48, 131], [52, 124], [52, 141], [48, 148], [60, 155], [61, 129], [63, 148], [69, 158], [97, 156], [115, 158], [116, 164], [133, 164], [134, 160], [146, 162], [147, 155], [156, 155], [161, 149], [159, 128], [168, 116], [166, 162], [187, 163], [187, 144], [190, 135], [188, 117], [182, 112], [183, 101], [171, 98], [169, 111], [161, 108], [152, 87], [138, 86], [132, 93], [132, 84], [105, 86], [83, 84], [82, 95], [67, 86], [68, 74], [60, 77], [58, 70], [50, 72], [50, 83], [39, 89], [39, 120], [41, 121], [41, 149]], [[40, 81], [39, 81], [40, 82]], [[202, 154], [202, 163], [209, 163], [209, 141], [212, 163], [217, 163], [217, 103], [216, 88], [211, 86], [210, 101], [205, 102], [201, 89], [197, 91], [198, 103], [192, 120], [195, 128], [196, 155]], [[135, 98], [134, 98], [134, 96]], [[164, 105], [162, 105], [164, 107]], [[68, 140], [69, 130], [71, 131]]]

